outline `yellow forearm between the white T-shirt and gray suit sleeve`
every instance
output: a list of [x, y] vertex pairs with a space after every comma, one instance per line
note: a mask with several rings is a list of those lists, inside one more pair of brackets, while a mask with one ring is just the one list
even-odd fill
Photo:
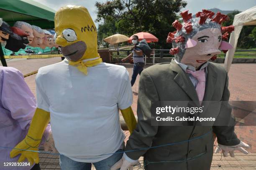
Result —
[[133, 114], [133, 110], [130, 107], [121, 110], [121, 113], [123, 115], [123, 119], [125, 120], [125, 123], [128, 127], [128, 130], [130, 131], [130, 134], [132, 134], [133, 130], [136, 128], [137, 121]]

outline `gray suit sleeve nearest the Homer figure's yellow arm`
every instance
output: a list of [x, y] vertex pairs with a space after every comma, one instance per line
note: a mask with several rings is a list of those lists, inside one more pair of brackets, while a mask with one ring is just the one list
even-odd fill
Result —
[[[136, 129], [127, 141], [125, 152], [132, 160], [138, 160], [151, 147], [152, 140], [157, 133], [158, 126], [151, 125], [151, 103], [159, 101], [153, 80], [146, 70], [141, 73], [138, 92], [138, 123]], [[147, 148], [147, 149], [144, 149]], [[143, 149], [143, 150], [142, 150]], [[129, 150], [138, 150], [131, 151]]]

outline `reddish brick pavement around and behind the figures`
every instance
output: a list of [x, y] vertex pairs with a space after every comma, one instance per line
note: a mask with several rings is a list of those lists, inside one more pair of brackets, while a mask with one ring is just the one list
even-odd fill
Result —
[[[23, 74], [28, 74], [38, 70], [39, 67], [45, 65], [53, 64], [59, 62], [60, 58], [47, 58], [47, 59], [30, 59], [30, 60], [17, 60], [8, 62], [8, 66], [15, 67], [20, 70]], [[131, 64], [120, 64], [124, 65], [131, 78], [133, 65]], [[146, 67], [151, 64], [147, 64]], [[35, 90], [35, 77], [36, 75], [31, 75], [25, 78], [31, 91], [36, 95]], [[138, 79], [132, 87], [133, 89], [133, 111], [136, 114], [137, 111], [137, 99], [138, 99]], [[230, 100], [256, 100], [256, 64], [233, 64], [229, 73], [229, 90], [230, 90]], [[251, 135], [255, 135], [256, 127], [246, 127], [243, 130], [236, 130], [239, 133], [252, 130]], [[254, 130], [254, 132], [253, 132]], [[125, 132], [128, 133], [128, 132]], [[242, 135], [238, 135], [241, 138]], [[128, 134], [127, 134], [128, 137]], [[245, 138], [243, 138], [245, 137]], [[250, 137], [248, 133], [245, 133], [242, 138], [246, 139]], [[252, 141], [255, 143], [255, 140]], [[40, 154], [40, 164], [43, 170], [60, 169], [59, 168], [59, 158], [56, 155]], [[220, 160], [220, 154], [214, 154], [212, 161], [211, 170], [256, 170], [256, 153], [250, 153], [249, 155], [243, 155], [241, 153], [236, 153], [236, 158], [224, 158]]]

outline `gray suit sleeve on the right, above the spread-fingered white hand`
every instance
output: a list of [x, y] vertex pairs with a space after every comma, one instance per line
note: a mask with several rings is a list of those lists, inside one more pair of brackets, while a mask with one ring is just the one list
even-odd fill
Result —
[[[220, 107], [220, 113], [217, 119], [221, 119], [223, 122], [226, 121], [228, 125], [231, 126], [213, 126], [213, 132], [217, 136], [218, 143], [221, 145], [232, 146], [238, 145], [240, 140], [237, 138], [236, 133], [234, 133], [234, 117], [232, 115], [232, 108], [228, 103], [230, 97], [230, 92], [228, 90], [228, 74], [226, 72], [225, 87], [223, 90], [222, 103]], [[217, 120], [218, 121], [218, 120]]]

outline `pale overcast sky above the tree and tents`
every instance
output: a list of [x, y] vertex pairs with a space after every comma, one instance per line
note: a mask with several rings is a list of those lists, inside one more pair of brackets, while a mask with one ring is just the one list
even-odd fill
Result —
[[[89, 10], [92, 19], [97, 18], [95, 2], [106, 2], [106, 0], [35, 0], [54, 10], [59, 10], [60, 7], [69, 4], [82, 5]], [[256, 5], [256, 0], [186, 0], [187, 7], [193, 15], [202, 9], [218, 8], [220, 10], [239, 10], [244, 11]], [[97, 23], [95, 23], [98, 25]]]

